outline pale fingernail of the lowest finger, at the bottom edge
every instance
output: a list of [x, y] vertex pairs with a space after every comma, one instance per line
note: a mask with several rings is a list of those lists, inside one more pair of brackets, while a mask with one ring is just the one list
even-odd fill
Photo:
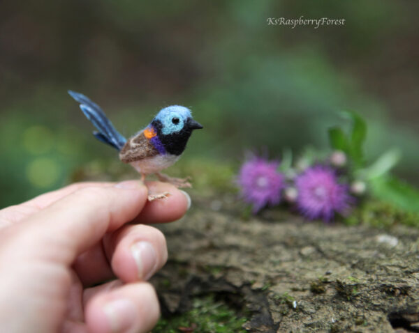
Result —
[[135, 304], [124, 298], [108, 302], [108, 304], [105, 304], [103, 307], [103, 312], [108, 318], [110, 332], [112, 333], [127, 330], [134, 324], [135, 316], [137, 316]]

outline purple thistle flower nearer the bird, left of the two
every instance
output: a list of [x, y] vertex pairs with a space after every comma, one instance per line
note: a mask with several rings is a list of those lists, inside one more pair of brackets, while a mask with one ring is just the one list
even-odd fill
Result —
[[279, 162], [253, 156], [240, 169], [237, 183], [241, 196], [253, 206], [253, 214], [263, 207], [281, 202], [284, 176], [277, 171]]

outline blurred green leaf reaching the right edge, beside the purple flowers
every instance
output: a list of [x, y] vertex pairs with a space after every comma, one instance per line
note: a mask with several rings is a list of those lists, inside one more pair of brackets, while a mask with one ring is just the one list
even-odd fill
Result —
[[419, 212], [419, 190], [392, 176], [373, 178], [372, 194], [409, 212]]

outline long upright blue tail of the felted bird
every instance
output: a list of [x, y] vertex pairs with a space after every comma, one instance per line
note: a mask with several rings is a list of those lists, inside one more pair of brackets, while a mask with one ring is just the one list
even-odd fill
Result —
[[126, 143], [126, 139], [115, 129], [101, 107], [81, 93], [75, 93], [74, 91], [68, 91], [68, 93], [80, 103], [80, 109], [82, 109], [84, 116], [98, 129], [99, 132], [94, 132], [94, 136], [105, 144], [121, 150]]

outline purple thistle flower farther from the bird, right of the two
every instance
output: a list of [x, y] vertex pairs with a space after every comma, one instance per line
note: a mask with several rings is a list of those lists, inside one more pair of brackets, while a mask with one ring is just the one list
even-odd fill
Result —
[[337, 175], [328, 166], [311, 166], [295, 179], [297, 208], [308, 219], [329, 222], [335, 212], [344, 213], [352, 197], [348, 187], [338, 183]]

